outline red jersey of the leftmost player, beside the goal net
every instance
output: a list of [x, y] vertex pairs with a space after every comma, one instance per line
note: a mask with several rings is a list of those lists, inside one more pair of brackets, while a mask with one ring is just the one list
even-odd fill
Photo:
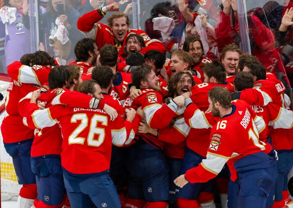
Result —
[[[41, 65], [29, 67], [18, 61], [7, 66], [7, 72], [12, 80], [7, 88], [5, 98], [8, 116], [4, 118], [1, 125], [4, 143], [15, 143], [34, 138], [34, 131], [23, 123], [23, 117], [19, 115], [17, 105], [27, 93], [37, 90], [39, 85], [48, 82], [51, 69], [51, 66]], [[16, 86], [13, 80], [23, 83], [22, 86]]]

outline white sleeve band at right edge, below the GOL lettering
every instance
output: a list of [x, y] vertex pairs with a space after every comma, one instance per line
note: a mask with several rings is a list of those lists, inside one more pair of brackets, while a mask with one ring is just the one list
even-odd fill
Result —
[[278, 117], [270, 121], [269, 126], [273, 126], [274, 129], [291, 129], [293, 126], [293, 111], [280, 108]]

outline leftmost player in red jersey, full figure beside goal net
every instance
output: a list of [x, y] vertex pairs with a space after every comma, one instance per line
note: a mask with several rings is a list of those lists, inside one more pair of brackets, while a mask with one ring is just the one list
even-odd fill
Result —
[[30, 208], [37, 198], [36, 178], [31, 171], [31, 145], [34, 131], [24, 125], [17, 105], [27, 93], [37, 90], [40, 84], [48, 82], [48, 74], [55, 62], [43, 51], [26, 54], [20, 61], [13, 62], [7, 67], [12, 79], [5, 100], [8, 116], [2, 122], [1, 132], [5, 150], [13, 158], [18, 183], [23, 184], [17, 199], [17, 207]]

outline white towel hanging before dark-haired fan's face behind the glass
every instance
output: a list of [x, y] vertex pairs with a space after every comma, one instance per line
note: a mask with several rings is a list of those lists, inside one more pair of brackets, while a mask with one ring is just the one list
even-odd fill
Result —
[[154, 30], [160, 30], [163, 40], [167, 39], [175, 28], [174, 19], [169, 17], [156, 17], [153, 20]]

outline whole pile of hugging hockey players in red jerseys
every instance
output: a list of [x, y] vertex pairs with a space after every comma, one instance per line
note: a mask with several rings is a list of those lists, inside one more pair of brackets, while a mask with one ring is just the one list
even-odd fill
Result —
[[[69, 65], [37, 51], [8, 66], [1, 131], [23, 185], [17, 207], [292, 207], [291, 88], [281, 70], [264, 66], [271, 60], [258, 59], [264, 44], [258, 58], [242, 54], [226, 37], [237, 27], [215, 24], [230, 21], [236, 2], [198, 2], [197, 13], [183, 0], [178, 11], [160, 3], [148, 24], [161, 31], [150, 36], [129, 29], [125, 2], [86, 3], [98, 6], [78, 19], [86, 38]], [[213, 20], [198, 16], [221, 6]], [[108, 25], [99, 22], [106, 15]], [[184, 17], [186, 39], [178, 34]]]

